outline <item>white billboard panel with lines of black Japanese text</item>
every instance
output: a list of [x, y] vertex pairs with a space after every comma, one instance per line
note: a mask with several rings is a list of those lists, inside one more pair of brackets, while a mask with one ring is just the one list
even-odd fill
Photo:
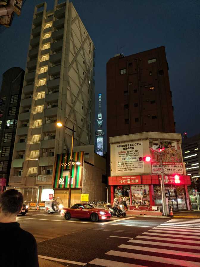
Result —
[[141, 140], [115, 145], [116, 173], [143, 172], [144, 162], [139, 161], [139, 157], [143, 157]]

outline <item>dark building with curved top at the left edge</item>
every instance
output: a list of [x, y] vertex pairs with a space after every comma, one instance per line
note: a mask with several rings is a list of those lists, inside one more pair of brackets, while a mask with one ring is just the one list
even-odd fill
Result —
[[[0, 177], [8, 178], [12, 160], [24, 70], [8, 69], [3, 74], [0, 92]], [[1, 186], [0, 186], [1, 187]], [[1, 188], [3, 190], [3, 188]], [[2, 191], [0, 190], [0, 192]]]

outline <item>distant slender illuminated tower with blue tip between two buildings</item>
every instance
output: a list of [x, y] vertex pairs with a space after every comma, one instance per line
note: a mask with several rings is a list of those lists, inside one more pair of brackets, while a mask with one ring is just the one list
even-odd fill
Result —
[[99, 94], [99, 112], [98, 112], [98, 119], [97, 119], [97, 125], [98, 130], [96, 131], [96, 153], [100, 156], [103, 156], [103, 137], [104, 137], [104, 131], [102, 128], [102, 114], [101, 114], [101, 94]]

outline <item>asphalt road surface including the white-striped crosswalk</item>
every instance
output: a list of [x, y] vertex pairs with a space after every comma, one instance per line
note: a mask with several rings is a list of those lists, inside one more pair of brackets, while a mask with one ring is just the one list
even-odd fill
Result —
[[200, 267], [199, 219], [127, 217], [93, 223], [40, 211], [17, 221], [35, 236], [38, 255], [66, 266]]

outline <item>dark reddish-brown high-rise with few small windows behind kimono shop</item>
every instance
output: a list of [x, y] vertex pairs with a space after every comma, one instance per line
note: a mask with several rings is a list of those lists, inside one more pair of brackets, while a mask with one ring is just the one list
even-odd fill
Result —
[[115, 55], [107, 62], [109, 137], [140, 132], [175, 133], [165, 47]]

